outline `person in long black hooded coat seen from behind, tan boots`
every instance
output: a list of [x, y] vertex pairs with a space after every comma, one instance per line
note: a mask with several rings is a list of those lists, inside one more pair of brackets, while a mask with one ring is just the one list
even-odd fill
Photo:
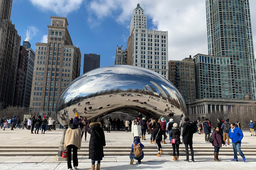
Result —
[[103, 147], [106, 146], [105, 134], [102, 124], [95, 119], [89, 125], [90, 142], [89, 142], [89, 159], [92, 161], [91, 169], [95, 170], [95, 161], [97, 161], [96, 169], [100, 169], [100, 162], [104, 157]]

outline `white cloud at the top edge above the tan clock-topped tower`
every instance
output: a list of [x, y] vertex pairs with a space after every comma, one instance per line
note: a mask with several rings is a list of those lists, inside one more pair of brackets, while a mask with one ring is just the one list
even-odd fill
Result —
[[80, 8], [84, 0], [30, 0], [31, 3], [42, 11], [52, 11], [61, 16]]

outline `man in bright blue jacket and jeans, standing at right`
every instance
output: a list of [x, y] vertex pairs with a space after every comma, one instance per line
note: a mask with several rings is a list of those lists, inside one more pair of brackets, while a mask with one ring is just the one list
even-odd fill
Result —
[[230, 137], [230, 139], [232, 139], [232, 145], [234, 150], [234, 159], [231, 159], [231, 161], [238, 161], [238, 158], [237, 158], [237, 151], [238, 151], [240, 156], [243, 158], [243, 161], [245, 162], [246, 160], [245, 160], [244, 153], [241, 151], [241, 140], [244, 137], [242, 130], [239, 129], [239, 127], [236, 127], [235, 123], [231, 123], [228, 136]]

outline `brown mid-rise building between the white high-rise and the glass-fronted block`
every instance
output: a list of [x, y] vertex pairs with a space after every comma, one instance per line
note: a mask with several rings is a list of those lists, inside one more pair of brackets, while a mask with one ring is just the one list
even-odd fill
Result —
[[195, 62], [191, 56], [182, 61], [169, 60], [169, 81], [176, 86], [185, 102], [195, 101]]

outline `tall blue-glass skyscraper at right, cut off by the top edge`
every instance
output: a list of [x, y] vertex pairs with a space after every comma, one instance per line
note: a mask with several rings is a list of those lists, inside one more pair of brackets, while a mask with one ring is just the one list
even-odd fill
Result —
[[[230, 79], [221, 79], [230, 87], [224, 93], [233, 99], [244, 99], [245, 95], [256, 99], [249, 0], [206, 0], [206, 16], [208, 54], [230, 59], [230, 64], [227, 63], [230, 65], [230, 71], [226, 72], [230, 74]], [[207, 58], [208, 63], [213, 64], [212, 61], [212, 58]], [[208, 82], [207, 79], [209, 78], [206, 77], [205, 82]], [[204, 93], [204, 88], [201, 88], [201, 92]]]

